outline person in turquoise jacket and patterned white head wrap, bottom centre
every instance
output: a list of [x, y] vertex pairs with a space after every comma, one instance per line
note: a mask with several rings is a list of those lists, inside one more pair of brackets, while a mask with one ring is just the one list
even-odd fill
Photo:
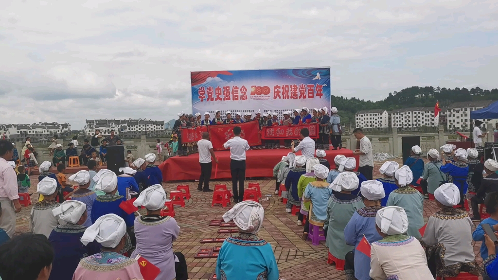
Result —
[[221, 246], [216, 261], [220, 279], [279, 279], [270, 243], [256, 235], [263, 218], [263, 207], [254, 201], [236, 204], [223, 215], [225, 222], [234, 221], [240, 233], [231, 235]]

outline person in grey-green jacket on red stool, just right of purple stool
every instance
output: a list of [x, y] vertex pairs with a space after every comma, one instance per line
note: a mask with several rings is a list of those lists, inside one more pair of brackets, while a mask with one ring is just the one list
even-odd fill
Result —
[[365, 207], [362, 198], [352, 194], [352, 191], [358, 189], [358, 183], [358, 176], [354, 172], [344, 171], [329, 186], [336, 193], [329, 199], [323, 228], [327, 231], [325, 245], [329, 248], [329, 259], [332, 259], [337, 268], [344, 268], [346, 254], [354, 249], [346, 244], [344, 229], [353, 214]]

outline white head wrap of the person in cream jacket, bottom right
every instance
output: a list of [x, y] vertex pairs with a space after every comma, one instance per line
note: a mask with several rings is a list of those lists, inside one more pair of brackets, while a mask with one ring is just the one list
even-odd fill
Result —
[[387, 235], [403, 234], [408, 230], [408, 217], [403, 208], [387, 206], [377, 211], [375, 224]]

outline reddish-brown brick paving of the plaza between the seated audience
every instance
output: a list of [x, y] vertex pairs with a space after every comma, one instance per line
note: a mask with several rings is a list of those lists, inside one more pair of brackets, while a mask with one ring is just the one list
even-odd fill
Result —
[[[400, 160], [397, 160], [400, 163]], [[380, 177], [378, 168], [380, 163], [375, 163], [374, 178]], [[37, 176], [31, 176], [31, 192], [36, 191]], [[285, 205], [280, 202], [273, 192], [275, 181], [271, 179], [256, 179], [247, 180], [249, 182], [257, 182], [261, 187], [263, 198], [265, 194], [269, 196], [268, 201], [263, 201], [261, 204], [265, 209], [265, 219], [263, 227], [258, 235], [268, 241], [274, 250], [275, 258], [280, 271], [280, 278], [285, 280], [329, 280], [329, 279], [346, 279], [342, 271], [335, 269], [335, 266], [328, 265], [327, 248], [324, 242], [319, 246], [312, 246], [311, 242], [301, 239], [303, 227], [297, 226], [297, 216], [291, 216], [285, 212]], [[169, 192], [174, 190], [180, 184], [163, 183], [164, 189]], [[194, 259], [195, 254], [200, 248], [212, 248], [215, 244], [201, 244], [199, 241], [202, 238], [226, 238], [228, 234], [218, 234], [218, 227], [209, 227], [209, 221], [221, 219], [221, 216], [229, 209], [221, 206], [211, 207], [212, 193], [203, 193], [197, 191], [197, 182], [183, 182], [189, 184], [192, 197], [186, 201], [185, 208], [175, 208], [175, 219], [178, 222], [181, 230], [179, 238], [174, 242], [173, 248], [175, 251], [182, 252], [186, 259], [189, 268], [189, 277], [191, 280], [207, 280], [214, 273], [216, 259]], [[226, 184], [229, 188], [231, 182], [226, 180], [213, 181], [211, 187], [215, 184]], [[32, 203], [38, 199], [37, 194], [31, 196]], [[29, 212], [31, 206], [23, 207], [20, 213], [17, 214], [16, 232], [27, 232]], [[437, 212], [437, 206], [434, 201], [424, 201], [424, 216], [427, 217]], [[482, 262], [479, 257], [479, 248], [481, 242], [473, 242], [474, 251], [477, 260]]]

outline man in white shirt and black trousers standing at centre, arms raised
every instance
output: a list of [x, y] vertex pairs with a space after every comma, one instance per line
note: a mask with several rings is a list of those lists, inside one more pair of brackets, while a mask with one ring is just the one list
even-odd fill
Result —
[[[244, 200], [244, 179], [246, 178], [246, 151], [249, 150], [247, 140], [241, 138], [241, 128], [234, 128], [234, 138], [228, 140], [223, 146], [230, 148], [230, 171], [232, 172], [232, 190], [234, 191], [234, 202]], [[239, 189], [237, 189], [239, 182]]]

